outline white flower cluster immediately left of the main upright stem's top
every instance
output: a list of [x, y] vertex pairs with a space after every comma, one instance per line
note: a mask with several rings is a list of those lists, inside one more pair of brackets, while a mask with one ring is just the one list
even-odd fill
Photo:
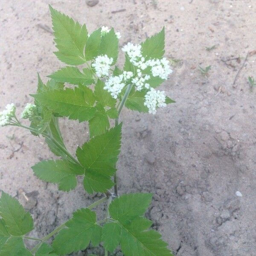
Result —
[[123, 87], [125, 87], [125, 82], [133, 76], [133, 73], [130, 71], [124, 71], [119, 76], [111, 76], [106, 82], [104, 89], [108, 90], [111, 93], [111, 96], [114, 99], [117, 99], [119, 93], [121, 93]]

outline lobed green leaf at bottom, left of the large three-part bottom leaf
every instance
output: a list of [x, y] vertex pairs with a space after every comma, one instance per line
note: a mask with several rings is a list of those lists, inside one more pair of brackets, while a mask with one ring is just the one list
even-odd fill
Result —
[[84, 250], [91, 243], [96, 246], [101, 241], [102, 228], [96, 224], [96, 213], [90, 209], [79, 209], [66, 222], [52, 242], [54, 252], [59, 255]]

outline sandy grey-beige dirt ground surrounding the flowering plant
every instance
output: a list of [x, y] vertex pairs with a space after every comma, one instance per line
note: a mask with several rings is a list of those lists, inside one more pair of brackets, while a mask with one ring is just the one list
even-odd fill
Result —
[[[120, 47], [166, 26], [166, 56], [179, 61], [162, 89], [177, 103], [156, 115], [123, 111], [120, 193], [154, 193], [148, 216], [177, 256], [255, 256], [256, 88], [247, 80], [256, 77], [255, 0], [51, 4], [89, 31], [115, 27]], [[0, 24], [0, 109], [14, 102], [19, 115], [32, 102], [37, 72], [46, 81], [63, 64], [52, 54], [48, 1], [1, 0]], [[208, 76], [199, 65], [211, 65]], [[87, 124], [63, 119], [61, 130], [72, 153], [88, 139]], [[70, 193], [38, 180], [30, 166], [52, 157], [43, 139], [0, 129], [0, 189], [29, 209], [40, 237], [101, 196], [88, 196], [81, 180]]]

